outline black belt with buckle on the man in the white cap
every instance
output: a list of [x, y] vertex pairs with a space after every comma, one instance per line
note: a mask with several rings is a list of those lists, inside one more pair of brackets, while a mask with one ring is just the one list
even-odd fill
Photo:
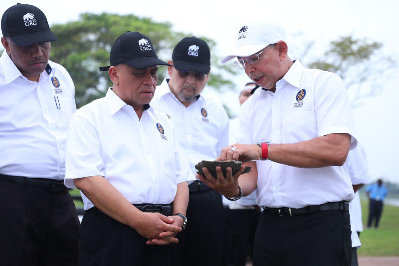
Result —
[[292, 217], [297, 215], [318, 213], [320, 211], [349, 212], [349, 202], [348, 201], [328, 202], [320, 205], [310, 205], [300, 209], [294, 209], [289, 207], [281, 207], [281, 208], [263, 207], [263, 209], [264, 212], [275, 214], [279, 217]]

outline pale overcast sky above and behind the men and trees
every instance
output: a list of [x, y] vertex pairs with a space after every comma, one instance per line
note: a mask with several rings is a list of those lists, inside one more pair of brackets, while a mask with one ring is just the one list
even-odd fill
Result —
[[[76, 20], [83, 12], [135, 14], [150, 17], [157, 22], [169, 21], [174, 30], [216, 40], [218, 46], [213, 53], [219, 53], [220, 56], [234, 45], [233, 40], [239, 25], [247, 19], [267, 18], [279, 20], [286, 28], [289, 48], [300, 47], [301, 43], [292, 41], [292, 36], [300, 32], [316, 41], [312, 51], [316, 55], [322, 54], [329, 41], [336, 40], [339, 36], [353, 35], [356, 38], [379, 41], [383, 43], [384, 55], [395, 61], [399, 58], [399, 2], [393, 0], [37, 0], [22, 3], [40, 8], [50, 25]], [[16, 2], [2, 1], [0, 12], [4, 13], [13, 4]], [[381, 81], [381, 95], [364, 100], [363, 105], [354, 110], [358, 140], [365, 148], [371, 177], [382, 177], [397, 183], [399, 174], [395, 166], [399, 159], [398, 72], [388, 80]], [[246, 80], [244, 73], [239, 75], [237, 87], [234, 89], [238, 90]], [[223, 95], [223, 99], [234, 113], [238, 113], [238, 99], [233, 89], [231, 93]]]

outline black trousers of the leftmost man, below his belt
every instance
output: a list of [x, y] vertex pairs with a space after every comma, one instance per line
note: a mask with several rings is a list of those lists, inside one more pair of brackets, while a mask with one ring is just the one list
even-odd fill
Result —
[[66, 188], [0, 180], [0, 215], [0, 265], [77, 265], [80, 223]]

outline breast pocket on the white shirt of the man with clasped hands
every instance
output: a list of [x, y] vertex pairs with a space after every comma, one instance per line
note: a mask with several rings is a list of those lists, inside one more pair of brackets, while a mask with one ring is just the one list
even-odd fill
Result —
[[173, 140], [158, 140], [158, 152], [160, 155], [162, 171], [170, 179], [176, 180], [176, 157]]

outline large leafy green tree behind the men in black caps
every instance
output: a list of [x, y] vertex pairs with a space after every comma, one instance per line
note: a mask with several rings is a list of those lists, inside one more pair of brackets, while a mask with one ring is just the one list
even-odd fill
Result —
[[[51, 60], [63, 65], [75, 83], [75, 100], [81, 107], [92, 100], [103, 97], [107, 88], [112, 85], [107, 72], [99, 72], [99, 67], [109, 65], [109, 53], [117, 37], [126, 31], [138, 31], [150, 37], [158, 57], [168, 61], [172, 49], [180, 39], [190, 36], [189, 33], [174, 32], [169, 22], [154, 22], [150, 18], [134, 15], [90, 14], [79, 16], [77, 21], [51, 26], [58, 41], [52, 43]], [[209, 47], [215, 41], [203, 38]], [[212, 70], [209, 86], [215, 89], [223, 85], [233, 85], [223, 79], [223, 71], [233, 73], [231, 67], [221, 66], [220, 59], [212, 54]], [[159, 81], [166, 76], [166, 67], [160, 67]]]

